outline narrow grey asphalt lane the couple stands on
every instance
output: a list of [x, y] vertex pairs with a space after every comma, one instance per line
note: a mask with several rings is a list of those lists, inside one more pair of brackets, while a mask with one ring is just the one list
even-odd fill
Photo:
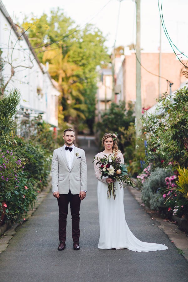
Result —
[[88, 192], [81, 202], [79, 251], [71, 238], [70, 210], [67, 219], [66, 249], [58, 251], [58, 205], [51, 193], [34, 216], [17, 228], [9, 246], [0, 254], [1, 282], [184, 282], [188, 263], [127, 189], [125, 215], [129, 228], [141, 241], [162, 243], [169, 248], [156, 252], [98, 249], [99, 220], [97, 180], [93, 170], [94, 146], [86, 151]]

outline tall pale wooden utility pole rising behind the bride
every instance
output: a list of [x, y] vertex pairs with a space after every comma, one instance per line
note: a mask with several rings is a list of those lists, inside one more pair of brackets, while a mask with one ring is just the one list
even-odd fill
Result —
[[140, 0], [136, 0], [136, 138], [141, 135], [142, 100], [141, 100], [141, 52], [140, 52]]

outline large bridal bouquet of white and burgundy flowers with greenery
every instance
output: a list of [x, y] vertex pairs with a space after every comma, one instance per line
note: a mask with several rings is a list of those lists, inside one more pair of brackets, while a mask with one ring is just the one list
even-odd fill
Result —
[[[96, 165], [99, 164], [99, 168], [101, 170], [101, 179], [103, 176], [107, 176], [114, 180], [119, 181], [120, 186], [122, 188], [123, 188], [122, 182], [126, 183], [128, 186], [135, 187], [135, 182], [127, 176], [128, 171], [127, 171], [126, 165], [121, 164], [120, 157], [117, 157], [115, 156], [114, 153], [112, 153], [108, 156], [104, 155], [104, 157], [102, 158], [97, 157], [97, 159], [95, 159], [94, 157], [94, 161], [95, 160], [97, 160]], [[111, 193], [112, 193], [114, 200], [116, 199], [115, 190], [116, 190], [115, 184], [113, 182], [108, 183], [108, 190], [107, 190], [108, 199], [111, 198]]]

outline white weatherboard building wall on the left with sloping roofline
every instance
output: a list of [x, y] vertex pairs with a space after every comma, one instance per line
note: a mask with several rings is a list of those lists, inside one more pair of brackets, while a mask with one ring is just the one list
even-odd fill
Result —
[[45, 67], [32, 52], [27, 37], [22, 36], [18, 39], [19, 28], [11, 25], [11, 18], [0, 1], [0, 49], [3, 52], [1, 56], [6, 61], [2, 71], [4, 83], [11, 74], [8, 62], [16, 67], [6, 91], [18, 88], [21, 93], [20, 108], [30, 113], [31, 118], [42, 113], [44, 121], [57, 127], [57, 97], [60, 93]]

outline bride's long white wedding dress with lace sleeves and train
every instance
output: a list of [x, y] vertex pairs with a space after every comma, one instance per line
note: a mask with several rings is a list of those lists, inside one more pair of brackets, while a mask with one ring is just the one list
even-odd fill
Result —
[[[97, 156], [104, 157], [104, 153], [98, 153], [96, 158]], [[119, 156], [121, 157], [122, 163], [124, 163], [123, 155], [119, 153]], [[113, 197], [107, 199], [107, 177], [102, 177], [101, 179], [100, 168], [99, 165], [96, 165], [96, 163], [97, 161], [94, 162], [94, 168], [95, 176], [98, 179], [97, 194], [100, 226], [98, 248], [127, 248], [135, 252], [149, 252], [168, 249], [167, 246], [162, 244], [142, 242], [133, 235], [125, 220], [123, 188], [121, 188], [119, 182], [116, 181], [116, 200], [114, 200]]]

